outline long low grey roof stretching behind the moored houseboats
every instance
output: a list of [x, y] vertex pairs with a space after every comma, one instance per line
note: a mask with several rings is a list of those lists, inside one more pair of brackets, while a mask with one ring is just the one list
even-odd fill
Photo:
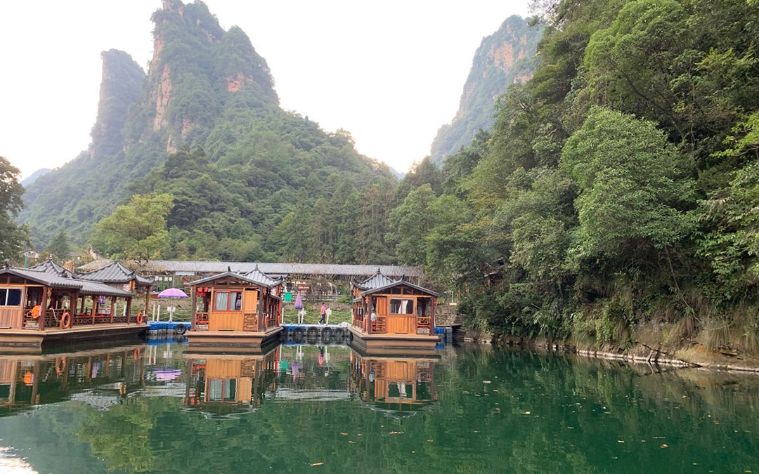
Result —
[[[108, 259], [98, 259], [78, 269], [82, 272], [91, 272], [111, 264]], [[159, 273], [187, 272], [188, 274], [215, 275], [227, 271], [246, 274], [254, 271], [256, 265], [261, 272], [267, 275], [325, 275], [347, 277], [369, 277], [376, 272], [377, 265], [337, 265], [323, 263], [272, 263], [272, 262], [200, 262], [196, 260], [151, 260], [143, 264], [127, 261], [130, 268], [147, 275]], [[403, 265], [379, 265], [383, 275], [391, 278], [423, 278], [424, 270], [421, 267]]]

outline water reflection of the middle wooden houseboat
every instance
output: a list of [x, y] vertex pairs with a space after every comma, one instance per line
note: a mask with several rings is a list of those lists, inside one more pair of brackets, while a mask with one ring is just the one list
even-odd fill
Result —
[[185, 354], [190, 377], [182, 403], [222, 416], [253, 410], [274, 383], [277, 355], [276, 350], [259, 356]]

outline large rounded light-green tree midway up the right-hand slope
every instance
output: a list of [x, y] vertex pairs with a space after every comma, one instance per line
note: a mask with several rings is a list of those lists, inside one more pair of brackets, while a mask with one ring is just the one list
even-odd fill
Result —
[[578, 251], [617, 256], [641, 243], [663, 249], [692, 231], [688, 159], [655, 124], [594, 108], [567, 140], [562, 168], [575, 180]]

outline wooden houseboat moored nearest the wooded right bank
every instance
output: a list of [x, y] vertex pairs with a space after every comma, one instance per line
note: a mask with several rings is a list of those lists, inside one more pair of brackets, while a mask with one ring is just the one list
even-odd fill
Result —
[[353, 315], [350, 328], [358, 350], [364, 353], [434, 353], [435, 306], [438, 294], [377, 272], [351, 287]]

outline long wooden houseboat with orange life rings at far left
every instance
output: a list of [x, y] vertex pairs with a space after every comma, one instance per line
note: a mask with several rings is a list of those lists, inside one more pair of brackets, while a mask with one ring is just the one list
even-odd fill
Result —
[[0, 350], [35, 352], [43, 344], [146, 331], [143, 313], [132, 312], [132, 297], [137, 287], [147, 290], [150, 280], [137, 282], [138, 275], [126, 272], [131, 282], [115, 286], [96, 275], [72, 274], [52, 259], [32, 268], [0, 268]]

